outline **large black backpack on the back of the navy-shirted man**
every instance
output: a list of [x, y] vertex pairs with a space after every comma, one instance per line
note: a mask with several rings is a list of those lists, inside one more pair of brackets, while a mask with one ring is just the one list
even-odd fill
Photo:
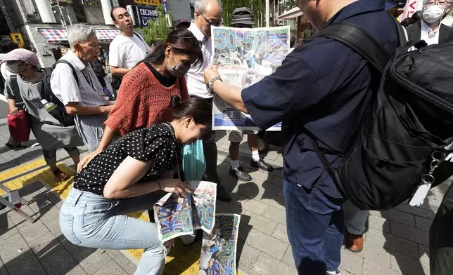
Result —
[[[331, 167], [319, 140], [307, 133], [340, 192], [361, 209], [393, 208], [409, 199], [422, 179], [434, 186], [453, 173], [444, 161], [453, 141], [453, 43], [406, 41], [400, 23], [395, 25], [401, 46], [393, 56], [350, 23], [317, 34], [362, 55], [373, 77], [381, 79], [338, 167]], [[408, 52], [411, 46], [417, 50]]]

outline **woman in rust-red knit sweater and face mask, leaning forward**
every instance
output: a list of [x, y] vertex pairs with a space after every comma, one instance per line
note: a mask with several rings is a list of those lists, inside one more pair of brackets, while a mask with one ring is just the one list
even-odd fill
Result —
[[192, 65], [202, 63], [201, 46], [195, 36], [186, 29], [171, 32], [165, 42], [123, 77], [99, 147], [80, 161], [77, 172], [118, 135], [172, 121], [170, 99], [172, 96], [189, 98], [184, 75]]

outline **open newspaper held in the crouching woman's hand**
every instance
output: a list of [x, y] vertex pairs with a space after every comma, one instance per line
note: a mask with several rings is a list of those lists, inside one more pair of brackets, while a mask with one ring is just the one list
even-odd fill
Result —
[[168, 193], [153, 207], [162, 242], [177, 236], [195, 234], [196, 229], [203, 229], [210, 234], [214, 228], [217, 185], [195, 180], [187, 184], [191, 194], [186, 198]]

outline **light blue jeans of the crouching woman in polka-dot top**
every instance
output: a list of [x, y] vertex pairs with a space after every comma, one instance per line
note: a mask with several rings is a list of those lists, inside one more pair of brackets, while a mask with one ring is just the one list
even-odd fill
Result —
[[162, 197], [154, 192], [132, 199], [105, 199], [91, 192], [70, 190], [60, 209], [60, 229], [71, 243], [89, 248], [144, 248], [135, 275], [162, 274], [165, 253], [155, 224], [128, 217], [152, 209]]

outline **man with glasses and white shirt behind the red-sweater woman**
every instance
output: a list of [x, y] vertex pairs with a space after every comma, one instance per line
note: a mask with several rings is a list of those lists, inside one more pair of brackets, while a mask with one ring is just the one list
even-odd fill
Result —
[[[222, 5], [218, 0], [197, 0], [195, 3], [195, 20], [191, 23], [189, 31], [201, 41], [203, 51], [203, 65], [189, 69], [186, 74], [187, 89], [190, 96], [205, 98], [212, 105], [212, 93], [206, 90], [203, 72], [211, 65], [211, 26], [222, 25]], [[217, 183], [217, 199], [231, 201], [231, 196], [220, 187], [220, 179], [217, 175], [217, 145], [215, 144], [215, 132], [203, 142], [205, 154], [206, 173], [205, 177], [210, 182]]]

